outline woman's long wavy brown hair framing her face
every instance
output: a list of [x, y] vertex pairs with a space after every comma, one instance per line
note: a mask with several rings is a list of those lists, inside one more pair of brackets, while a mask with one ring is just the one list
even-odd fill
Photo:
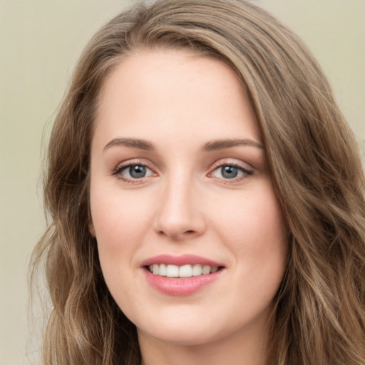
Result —
[[364, 364], [364, 174], [356, 141], [311, 53], [244, 0], [135, 3], [98, 31], [78, 61], [49, 141], [50, 224], [32, 260], [35, 270], [46, 257], [53, 304], [44, 364], [140, 364], [135, 327], [108, 292], [88, 232], [88, 174], [103, 81], [145, 48], [218, 58], [250, 98], [289, 228], [270, 364]]

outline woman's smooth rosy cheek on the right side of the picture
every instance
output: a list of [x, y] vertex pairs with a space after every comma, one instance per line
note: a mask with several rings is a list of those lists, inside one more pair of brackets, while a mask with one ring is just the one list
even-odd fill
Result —
[[[236, 202], [226, 201], [216, 210], [220, 240], [232, 252], [237, 281], [245, 282], [242, 291], [271, 300], [277, 292], [287, 262], [287, 228], [282, 210], [271, 188], [252, 191]], [[241, 202], [237, 204], [237, 201]], [[247, 292], [242, 293], [245, 297]]]

